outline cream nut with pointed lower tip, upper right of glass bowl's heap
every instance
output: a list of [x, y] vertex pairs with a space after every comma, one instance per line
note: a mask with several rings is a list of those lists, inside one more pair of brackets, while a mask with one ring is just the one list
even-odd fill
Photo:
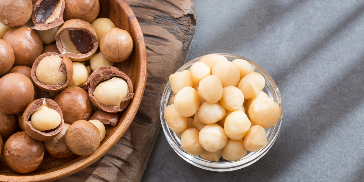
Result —
[[259, 73], [249, 73], [240, 80], [238, 88], [243, 92], [245, 99], [257, 97], [265, 85], [264, 77]]

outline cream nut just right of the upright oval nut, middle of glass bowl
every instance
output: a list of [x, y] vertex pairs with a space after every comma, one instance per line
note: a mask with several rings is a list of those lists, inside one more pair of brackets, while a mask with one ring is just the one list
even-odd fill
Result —
[[222, 89], [222, 97], [220, 103], [229, 111], [238, 111], [244, 103], [243, 92], [234, 86]]

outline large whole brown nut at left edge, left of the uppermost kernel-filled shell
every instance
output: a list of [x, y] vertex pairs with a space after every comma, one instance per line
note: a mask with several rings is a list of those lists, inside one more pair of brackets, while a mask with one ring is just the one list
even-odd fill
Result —
[[9, 73], [0, 79], [0, 109], [5, 113], [24, 111], [33, 99], [34, 86], [26, 76]]

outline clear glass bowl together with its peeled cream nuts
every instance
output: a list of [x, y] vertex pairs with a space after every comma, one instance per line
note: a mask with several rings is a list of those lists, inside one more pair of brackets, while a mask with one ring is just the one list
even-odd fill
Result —
[[191, 60], [163, 91], [160, 116], [179, 156], [210, 171], [256, 162], [282, 123], [282, 99], [272, 77], [253, 61], [225, 53]]

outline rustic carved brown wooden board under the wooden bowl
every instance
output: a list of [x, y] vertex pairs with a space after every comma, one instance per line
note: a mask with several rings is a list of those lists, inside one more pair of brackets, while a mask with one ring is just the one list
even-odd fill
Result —
[[60, 182], [140, 181], [161, 121], [159, 102], [169, 75], [185, 62], [196, 28], [191, 0], [126, 0], [141, 26], [148, 59], [147, 83], [133, 122], [104, 157]]

